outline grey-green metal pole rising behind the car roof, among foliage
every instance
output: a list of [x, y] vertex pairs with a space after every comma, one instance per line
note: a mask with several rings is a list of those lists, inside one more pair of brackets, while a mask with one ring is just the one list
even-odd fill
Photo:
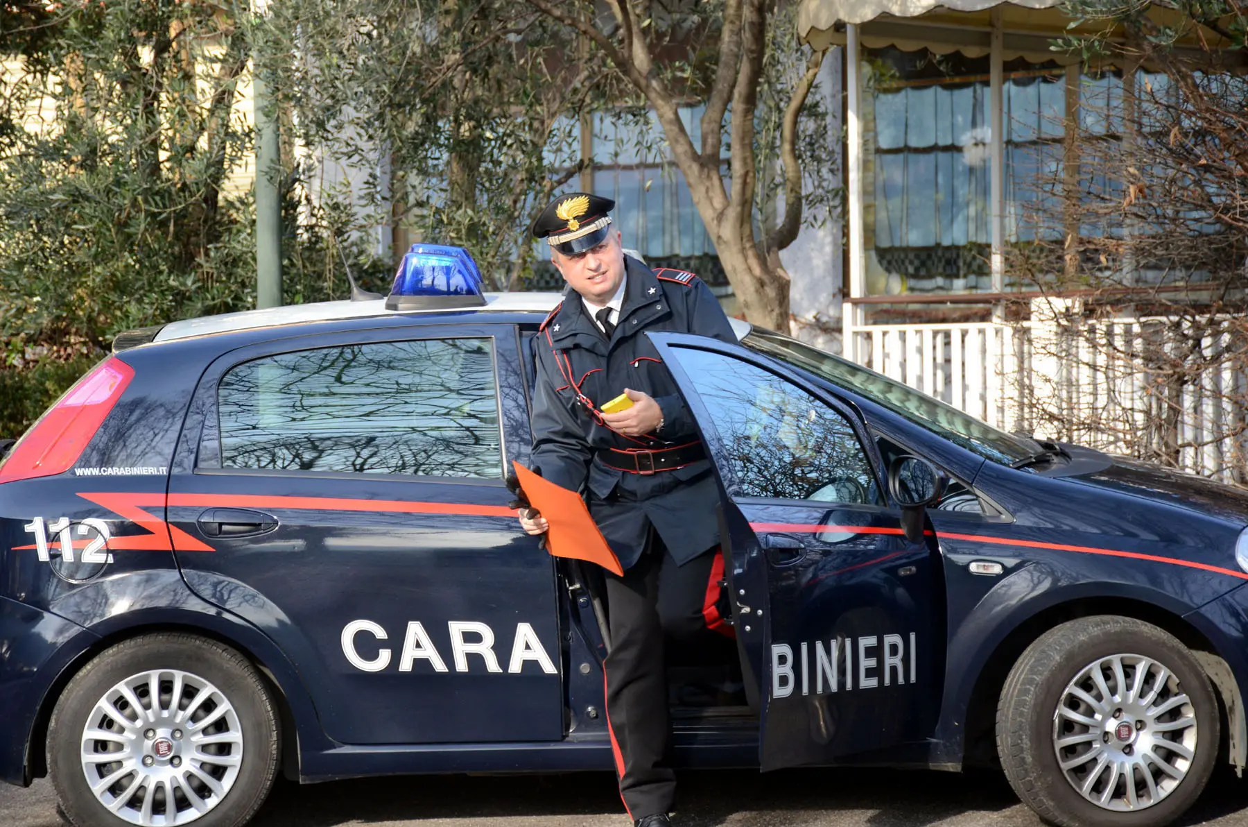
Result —
[[[256, 0], [256, 14], [263, 15], [266, 0]], [[282, 171], [277, 106], [272, 100], [263, 66], [266, 35], [257, 21], [252, 51], [252, 105], [256, 119], [256, 306], [282, 304], [282, 200], [277, 182]]]

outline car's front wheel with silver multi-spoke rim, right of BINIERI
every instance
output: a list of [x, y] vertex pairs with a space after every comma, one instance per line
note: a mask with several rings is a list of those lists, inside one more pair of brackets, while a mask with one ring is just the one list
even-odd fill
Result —
[[997, 705], [997, 753], [1010, 786], [1042, 821], [1161, 827], [1204, 790], [1219, 727], [1209, 678], [1178, 640], [1129, 617], [1085, 617], [1050, 630], [1018, 657]]

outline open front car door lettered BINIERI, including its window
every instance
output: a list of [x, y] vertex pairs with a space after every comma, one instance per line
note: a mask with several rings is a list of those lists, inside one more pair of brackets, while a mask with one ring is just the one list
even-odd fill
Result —
[[650, 334], [719, 473], [764, 770], [926, 757], [943, 678], [935, 538], [910, 542], [856, 410], [738, 345]]

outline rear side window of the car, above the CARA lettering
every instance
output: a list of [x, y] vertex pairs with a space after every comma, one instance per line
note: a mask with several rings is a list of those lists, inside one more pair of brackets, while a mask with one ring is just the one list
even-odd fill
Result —
[[322, 347], [221, 377], [221, 467], [502, 476], [489, 339]]

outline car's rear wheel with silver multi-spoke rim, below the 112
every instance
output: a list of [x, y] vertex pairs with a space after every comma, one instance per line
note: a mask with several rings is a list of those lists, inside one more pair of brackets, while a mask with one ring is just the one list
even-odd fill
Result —
[[144, 635], [101, 652], [65, 687], [47, 727], [49, 775], [77, 827], [242, 827], [273, 786], [278, 721], [265, 681], [235, 650]]

